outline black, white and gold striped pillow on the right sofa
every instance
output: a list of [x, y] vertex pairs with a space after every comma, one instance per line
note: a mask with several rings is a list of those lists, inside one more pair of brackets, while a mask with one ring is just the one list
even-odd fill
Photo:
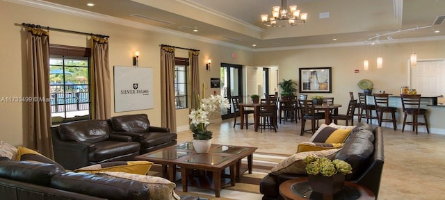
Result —
[[321, 124], [320, 128], [312, 135], [309, 142], [321, 142], [327, 144], [343, 143], [352, 129], [334, 128]]

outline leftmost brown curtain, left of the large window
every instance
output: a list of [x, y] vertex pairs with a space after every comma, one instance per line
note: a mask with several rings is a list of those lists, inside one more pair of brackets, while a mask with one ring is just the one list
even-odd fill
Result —
[[49, 32], [28, 27], [27, 65], [29, 77], [29, 126], [24, 133], [27, 146], [54, 158], [51, 143], [51, 106], [49, 101]]

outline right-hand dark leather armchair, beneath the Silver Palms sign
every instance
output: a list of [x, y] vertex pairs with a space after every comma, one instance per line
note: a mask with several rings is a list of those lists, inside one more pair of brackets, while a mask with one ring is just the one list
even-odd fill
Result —
[[112, 135], [128, 135], [134, 142], [140, 143], [140, 154], [176, 144], [177, 134], [170, 133], [170, 128], [150, 126], [147, 115], [122, 115], [108, 120], [113, 130]]

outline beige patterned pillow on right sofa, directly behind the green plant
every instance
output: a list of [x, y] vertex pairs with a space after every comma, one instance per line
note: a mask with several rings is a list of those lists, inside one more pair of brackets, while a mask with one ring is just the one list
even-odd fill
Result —
[[335, 156], [339, 149], [328, 149], [322, 151], [306, 151], [301, 153], [294, 153], [292, 156], [282, 160], [280, 163], [270, 169], [272, 174], [307, 174], [305, 158], [313, 156], [315, 158], [330, 158]]

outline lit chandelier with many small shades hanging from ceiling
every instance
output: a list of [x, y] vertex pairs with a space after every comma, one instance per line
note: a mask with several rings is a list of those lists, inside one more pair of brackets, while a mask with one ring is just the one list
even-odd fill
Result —
[[307, 13], [301, 13], [297, 6], [289, 6], [287, 10], [286, 0], [281, 0], [281, 6], [272, 7], [272, 17], [261, 15], [261, 21], [266, 26], [284, 27], [295, 26], [306, 22]]

